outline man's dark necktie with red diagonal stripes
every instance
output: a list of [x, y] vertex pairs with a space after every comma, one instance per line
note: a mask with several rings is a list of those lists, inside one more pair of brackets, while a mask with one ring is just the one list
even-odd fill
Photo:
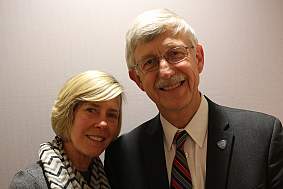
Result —
[[174, 137], [176, 143], [176, 154], [171, 172], [171, 189], [191, 189], [192, 179], [184, 152], [184, 143], [188, 133], [186, 131], [177, 132]]

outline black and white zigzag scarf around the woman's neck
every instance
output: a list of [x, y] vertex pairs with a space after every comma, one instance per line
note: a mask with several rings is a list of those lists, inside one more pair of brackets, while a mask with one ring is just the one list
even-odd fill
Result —
[[91, 178], [87, 183], [80, 171], [72, 168], [72, 162], [67, 158], [63, 142], [55, 137], [52, 142], [40, 145], [39, 158], [43, 164], [43, 172], [51, 189], [109, 189], [110, 185], [105, 176], [99, 157], [92, 162]]

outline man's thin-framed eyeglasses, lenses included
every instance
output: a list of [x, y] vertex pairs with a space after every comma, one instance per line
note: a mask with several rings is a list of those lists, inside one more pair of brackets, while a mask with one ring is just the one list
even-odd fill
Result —
[[177, 46], [168, 49], [162, 56], [149, 56], [142, 59], [135, 65], [135, 69], [139, 69], [143, 74], [156, 71], [159, 68], [159, 63], [164, 58], [170, 64], [177, 64], [188, 57], [188, 49], [193, 49], [194, 46], [185, 47]]

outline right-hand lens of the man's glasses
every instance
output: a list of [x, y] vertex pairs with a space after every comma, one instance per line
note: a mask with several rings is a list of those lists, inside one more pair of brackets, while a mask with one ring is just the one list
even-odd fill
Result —
[[171, 64], [175, 64], [178, 63], [182, 60], [184, 60], [188, 55], [187, 49], [185, 47], [175, 47], [172, 49], [169, 49], [164, 57], [165, 59], [171, 63]]

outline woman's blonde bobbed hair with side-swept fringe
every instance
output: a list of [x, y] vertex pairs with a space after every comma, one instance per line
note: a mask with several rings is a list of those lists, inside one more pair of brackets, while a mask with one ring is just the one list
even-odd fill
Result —
[[[69, 140], [74, 120], [74, 110], [80, 102], [107, 101], [120, 98], [122, 102], [123, 87], [111, 75], [90, 70], [70, 78], [60, 90], [51, 112], [53, 131], [64, 140]], [[122, 103], [119, 114], [119, 132], [122, 122]]]

